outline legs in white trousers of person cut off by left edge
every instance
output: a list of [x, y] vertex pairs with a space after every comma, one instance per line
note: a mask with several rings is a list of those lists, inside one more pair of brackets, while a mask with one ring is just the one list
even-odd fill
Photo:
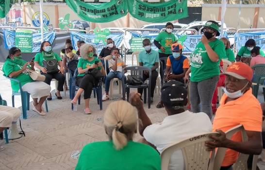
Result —
[[[0, 105], [0, 133], [2, 133], [5, 128], [11, 127], [12, 122], [17, 121], [20, 113], [20, 110], [17, 108]], [[17, 124], [14, 125], [17, 126]], [[2, 150], [4, 150], [4, 148], [0, 146], [0, 151]]]

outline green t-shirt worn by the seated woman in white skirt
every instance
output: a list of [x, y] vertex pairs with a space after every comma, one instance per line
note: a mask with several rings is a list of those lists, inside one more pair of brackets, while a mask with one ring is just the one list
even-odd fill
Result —
[[[9, 58], [6, 59], [3, 66], [4, 76], [7, 77], [10, 73], [20, 70], [21, 68], [23, 68], [25, 63], [26, 61], [22, 59], [21, 60], [11, 60]], [[31, 67], [28, 66], [28, 68]], [[34, 82], [30, 77], [29, 73], [26, 71], [23, 71], [21, 74], [19, 74], [17, 77], [14, 78], [20, 81], [21, 86], [25, 85], [26, 83]], [[18, 92], [19, 84], [17, 82], [11, 81], [11, 87], [13, 91]]]

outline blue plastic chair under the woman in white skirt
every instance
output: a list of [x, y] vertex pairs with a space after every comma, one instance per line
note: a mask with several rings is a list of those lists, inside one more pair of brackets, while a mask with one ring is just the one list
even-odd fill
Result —
[[[12, 90], [12, 106], [15, 107], [15, 96], [21, 95], [23, 119], [27, 119], [27, 110], [30, 110], [30, 94], [22, 90], [22, 85], [19, 80], [9, 77], [6, 78], [9, 79], [10, 81], [15, 81], [18, 83], [19, 91], [15, 92]], [[45, 100], [45, 107], [46, 107], [46, 112], [48, 112], [48, 105], [46, 100]]]

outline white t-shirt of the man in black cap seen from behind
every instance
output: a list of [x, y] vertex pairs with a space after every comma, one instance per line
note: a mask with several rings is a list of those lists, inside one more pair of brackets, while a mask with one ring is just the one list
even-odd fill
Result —
[[[149, 125], [144, 130], [144, 138], [153, 144], [159, 153], [173, 143], [192, 136], [212, 132], [212, 122], [205, 113], [185, 111], [167, 116], [162, 122]], [[185, 170], [182, 151], [172, 154], [168, 170]]]

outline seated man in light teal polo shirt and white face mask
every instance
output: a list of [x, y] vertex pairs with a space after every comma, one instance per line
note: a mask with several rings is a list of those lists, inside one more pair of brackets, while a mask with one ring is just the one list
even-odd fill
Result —
[[[156, 79], [158, 76], [157, 68], [159, 62], [159, 54], [157, 51], [151, 49], [151, 42], [148, 38], [143, 40], [144, 51], [141, 51], [138, 56], [139, 66], [151, 68], [151, 102], [153, 102], [154, 90], [156, 86]], [[145, 71], [143, 75], [144, 80], [149, 78], [149, 72]], [[138, 88], [138, 93], [143, 94], [143, 88]], [[141, 98], [142, 99], [142, 98]]]

